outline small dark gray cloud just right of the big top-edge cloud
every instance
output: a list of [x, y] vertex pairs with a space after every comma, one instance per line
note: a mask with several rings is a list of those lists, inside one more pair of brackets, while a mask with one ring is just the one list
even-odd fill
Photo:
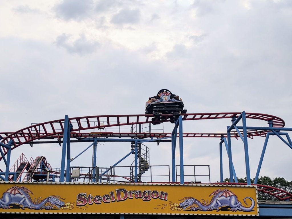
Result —
[[114, 24], [134, 24], [140, 21], [140, 10], [139, 9], [122, 9], [112, 17], [112, 23]]

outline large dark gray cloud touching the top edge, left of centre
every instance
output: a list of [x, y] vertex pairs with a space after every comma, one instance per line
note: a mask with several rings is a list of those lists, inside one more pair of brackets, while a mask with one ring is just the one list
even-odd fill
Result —
[[93, 9], [93, 0], [63, 0], [54, 7], [59, 18], [64, 20], [82, 20], [90, 15]]

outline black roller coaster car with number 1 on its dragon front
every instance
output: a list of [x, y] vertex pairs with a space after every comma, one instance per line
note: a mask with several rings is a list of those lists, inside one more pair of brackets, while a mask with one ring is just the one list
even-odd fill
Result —
[[150, 97], [146, 102], [145, 114], [153, 114], [152, 124], [160, 124], [159, 120], [164, 120], [166, 117], [161, 116], [162, 114], [172, 114], [167, 118], [171, 119], [173, 123], [180, 114], [186, 113], [187, 110], [183, 109], [184, 104], [179, 96], [171, 93], [167, 89], [158, 91], [156, 96]]

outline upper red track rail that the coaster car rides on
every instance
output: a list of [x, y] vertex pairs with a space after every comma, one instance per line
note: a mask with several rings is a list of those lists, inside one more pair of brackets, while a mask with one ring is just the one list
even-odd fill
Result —
[[[189, 121], [189, 120], [204, 120], [204, 119], [228, 119], [228, 118], [234, 118], [234, 117], [237, 118], [240, 114], [241, 112], [187, 113], [187, 114], [182, 114], [182, 116], [183, 116], [183, 120]], [[161, 120], [161, 122], [170, 122], [171, 119], [169, 117], [171, 116], [172, 116], [171, 114], [164, 114], [163, 117], [165, 117], [166, 119]], [[113, 127], [113, 126], [147, 124], [147, 123], [152, 123], [151, 121], [152, 117], [153, 115], [148, 115], [148, 114], [147, 115], [135, 114], [135, 115], [100, 115], [100, 116], [73, 117], [73, 118], [69, 118], [69, 122], [70, 123], [74, 122], [74, 124], [77, 124], [78, 127], [76, 128], [73, 127], [72, 130], [70, 130], [70, 132], [76, 132], [76, 131], [88, 130], [88, 129], [94, 129], [94, 128], [106, 128], [106, 127]], [[246, 118], [269, 121], [269, 122], [272, 122], [273, 127], [285, 126], [285, 122], [283, 119], [273, 116], [273, 115], [260, 114], [260, 113], [246, 113]], [[95, 121], [93, 121], [93, 119]], [[101, 121], [107, 121], [107, 124], [101, 123]], [[120, 122], [120, 121], [123, 121], [123, 122]], [[32, 126], [22, 128], [16, 132], [6, 135], [6, 137], [4, 137], [1, 142], [3, 142], [4, 144], [7, 144], [9, 140], [13, 140], [14, 143], [11, 147], [11, 150], [13, 150], [16, 147], [22, 144], [30, 143], [33, 140], [46, 138], [46, 137], [50, 137], [54, 135], [62, 135], [64, 131], [63, 123], [64, 123], [64, 119], [59, 119], [59, 120], [34, 124]], [[82, 126], [83, 124], [86, 124], [86, 127], [83, 127]], [[94, 126], [92, 126], [92, 124], [94, 124]], [[41, 130], [41, 128], [43, 132], [39, 131]], [[58, 129], [60, 129], [60, 131]], [[31, 130], [35, 130], [35, 132], [32, 132]], [[48, 130], [52, 130], [52, 132], [48, 132]], [[216, 135], [218, 133], [213, 133], [213, 134]], [[265, 134], [266, 132], [261, 133], [260, 131], [257, 131], [257, 135], [265, 135]], [[4, 151], [4, 155], [6, 155], [7, 149], [4, 147], [2, 147], [2, 149]], [[1, 159], [2, 157], [0, 157], [0, 160]]]

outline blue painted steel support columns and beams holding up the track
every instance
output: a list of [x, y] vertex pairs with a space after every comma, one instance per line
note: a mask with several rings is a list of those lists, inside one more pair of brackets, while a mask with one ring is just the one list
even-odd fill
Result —
[[[186, 118], [186, 117], [184, 117]], [[179, 163], [180, 163], [180, 183], [184, 183], [184, 161], [183, 161], [183, 116], [179, 116], [178, 119], [175, 121], [173, 131], [171, 133], [171, 136], [164, 137], [164, 138], [157, 138], [145, 140], [145, 139], [121, 139], [121, 138], [87, 138], [86, 140], [93, 141], [91, 145], [89, 145], [85, 150], [83, 150], [81, 153], [79, 153], [76, 157], [72, 158], [70, 157], [70, 131], [73, 129], [72, 124], [70, 124], [69, 117], [66, 115], [64, 120], [64, 126], [63, 126], [63, 143], [62, 143], [62, 159], [61, 159], [61, 171], [60, 171], [60, 182], [70, 182], [70, 163], [74, 159], [80, 156], [84, 151], [86, 151], [88, 148], [93, 146], [93, 166], [96, 166], [96, 155], [97, 155], [97, 144], [98, 142], [134, 142], [135, 148], [126, 156], [121, 158], [117, 163], [111, 166], [111, 168], [115, 167], [117, 164], [119, 164], [121, 161], [123, 161], [126, 157], [128, 157], [130, 154], [135, 154], [135, 166], [134, 166], [134, 181], [135, 183], [138, 182], [138, 144], [143, 142], [154, 142], [154, 141], [160, 141], [164, 139], [171, 138], [171, 163], [172, 163], [172, 181], [175, 182], [175, 149], [176, 149], [176, 140], [177, 137], [179, 138]], [[203, 116], [201, 117], [203, 118]], [[227, 136], [221, 135], [220, 143], [219, 143], [219, 154], [220, 154], [220, 182], [223, 182], [223, 152], [222, 152], [222, 144], [224, 142], [227, 156], [228, 156], [228, 163], [229, 163], [229, 175], [230, 175], [230, 182], [237, 183], [237, 176], [234, 170], [234, 165], [232, 161], [232, 146], [231, 146], [231, 133], [236, 131], [238, 137], [242, 140], [244, 145], [244, 156], [245, 156], [245, 167], [246, 167], [246, 178], [247, 178], [247, 185], [251, 185], [251, 176], [250, 176], [250, 165], [249, 165], [249, 156], [248, 156], [248, 130], [254, 130], [254, 131], [267, 131], [265, 136], [265, 142], [263, 145], [263, 150], [261, 153], [261, 157], [259, 160], [256, 177], [254, 183], [256, 184], [258, 181], [260, 169], [263, 163], [263, 158], [265, 154], [265, 150], [267, 147], [267, 143], [269, 140], [270, 135], [276, 135], [278, 138], [280, 138], [288, 147], [292, 149], [292, 142], [291, 138], [289, 137], [289, 134], [285, 131], [292, 131], [292, 128], [284, 128], [284, 127], [273, 127], [273, 121], [268, 121], [269, 127], [258, 127], [258, 126], [247, 126], [246, 124], [246, 112], [242, 112], [238, 117], [233, 116], [232, 117], [232, 124], [230, 126], [227, 126]], [[138, 119], [137, 119], [138, 121]], [[237, 126], [238, 122], [242, 121], [242, 126]], [[79, 126], [79, 124], [78, 124]], [[282, 131], [282, 132], [281, 132]], [[284, 131], [284, 132], [283, 132]], [[285, 140], [282, 136], [286, 136], [287, 140]], [[226, 139], [227, 138], [227, 139]], [[79, 140], [82, 142], [82, 140]], [[0, 146], [5, 147], [7, 149], [7, 157], [5, 158], [5, 153], [2, 151], [0, 147], [0, 153], [2, 156], [2, 159], [4, 159], [4, 163], [6, 164], [6, 171], [0, 172], [0, 178], [8, 181], [8, 176], [13, 175], [14, 180], [16, 179], [16, 172], [9, 172], [9, 163], [10, 163], [10, 155], [11, 155], [11, 146], [13, 145], [13, 140], [9, 141], [8, 143], [4, 144], [0, 142]], [[5, 150], [4, 150], [5, 151]], [[67, 159], [66, 159], [66, 152], [67, 152]], [[65, 161], [66, 161], [66, 171], [65, 171]], [[104, 171], [100, 176], [99, 180], [101, 181], [101, 177], [105, 175], [110, 169], [107, 169]], [[66, 173], [66, 178], [65, 178]], [[96, 172], [95, 169], [93, 169], [93, 176], [95, 176]], [[5, 178], [3, 178], [1, 175], [5, 175]], [[93, 177], [93, 182], [95, 182], [95, 177]], [[260, 216], [271, 216], [271, 215], [281, 215], [281, 216], [291, 216], [292, 215], [292, 208], [290, 205], [278, 205], [275, 206], [274, 204], [260, 204]], [[121, 218], [123, 218], [124, 215], [121, 215]]]

